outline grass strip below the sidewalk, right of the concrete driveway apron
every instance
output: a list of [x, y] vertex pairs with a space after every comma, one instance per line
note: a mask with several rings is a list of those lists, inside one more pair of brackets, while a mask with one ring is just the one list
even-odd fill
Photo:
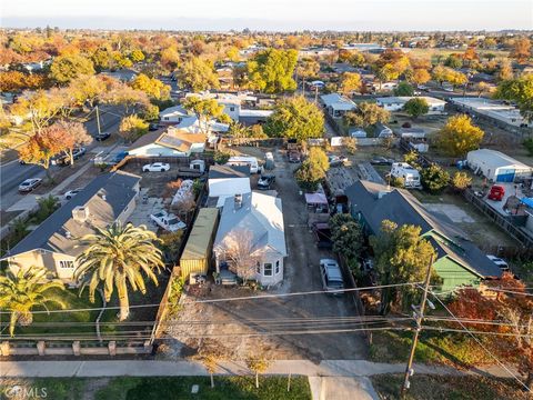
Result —
[[[401, 374], [371, 377], [381, 399], [401, 399]], [[410, 379], [411, 387], [404, 400], [481, 400], [527, 399], [527, 394], [511, 379], [485, 377], [418, 376]]]

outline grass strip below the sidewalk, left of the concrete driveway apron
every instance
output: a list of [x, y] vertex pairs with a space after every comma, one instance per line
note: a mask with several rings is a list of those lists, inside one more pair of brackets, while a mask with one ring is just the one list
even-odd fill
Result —
[[[97, 391], [95, 400], [311, 399], [306, 377], [291, 378], [290, 392], [286, 382], [286, 377], [260, 377], [260, 387], [255, 389], [253, 377], [215, 377], [212, 389], [209, 377], [115, 378]], [[200, 387], [198, 394], [191, 393], [193, 384]]]

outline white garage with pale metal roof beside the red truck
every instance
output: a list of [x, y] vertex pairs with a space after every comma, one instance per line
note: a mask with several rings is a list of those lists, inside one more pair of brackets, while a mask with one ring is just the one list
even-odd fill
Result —
[[466, 156], [469, 167], [474, 172], [483, 173], [494, 182], [514, 182], [519, 178], [531, 177], [533, 168], [500, 151], [480, 149]]

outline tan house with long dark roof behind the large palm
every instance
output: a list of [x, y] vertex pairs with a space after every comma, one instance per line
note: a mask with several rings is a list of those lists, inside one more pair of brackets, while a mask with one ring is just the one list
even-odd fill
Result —
[[69, 286], [76, 258], [84, 250], [79, 238], [113, 222], [127, 223], [137, 206], [141, 177], [117, 171], [94, 178], [2, 258], [14, 271], [46, 268]]

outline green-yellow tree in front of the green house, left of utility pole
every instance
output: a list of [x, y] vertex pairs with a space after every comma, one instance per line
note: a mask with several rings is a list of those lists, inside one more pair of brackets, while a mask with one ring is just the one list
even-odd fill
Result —
[[[384, 220], [381, 231], [370, 238], [375, 254], [375, 269], [380, 284], [398, 282], [422, 282], [431, 260], [436, 256], [431, 243], [421, 237], [421, 228], [410, 224], [399, 227]], [[438, 279], [433, 277], [433, 282]], [[406, 309], [413, 296], [420, 292], [416, 287], [383, 288], [381, 313], [386, 314], [391, 304]]]

